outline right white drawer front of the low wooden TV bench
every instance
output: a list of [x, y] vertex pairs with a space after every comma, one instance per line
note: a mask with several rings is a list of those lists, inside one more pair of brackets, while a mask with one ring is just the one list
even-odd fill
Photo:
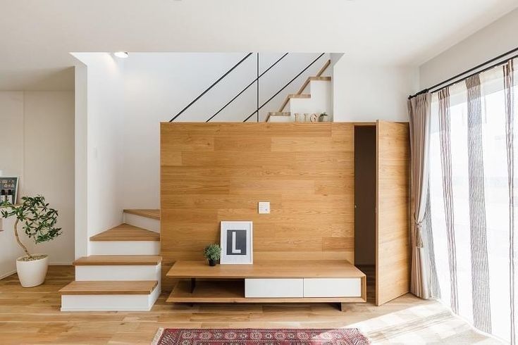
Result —
[[360, 278], [304, 278], [304, 297], [362, 296]]

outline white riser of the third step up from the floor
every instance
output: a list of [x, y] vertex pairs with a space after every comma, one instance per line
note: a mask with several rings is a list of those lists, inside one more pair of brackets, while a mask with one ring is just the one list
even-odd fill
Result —
[[160, 241], [90, 241], [90, 255], [160, 255]]

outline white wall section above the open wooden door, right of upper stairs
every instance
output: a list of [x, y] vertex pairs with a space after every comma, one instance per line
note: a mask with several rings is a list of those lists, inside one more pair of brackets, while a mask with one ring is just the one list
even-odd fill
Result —
[[344, 55], [333, 66], [334, 121], [408, 121], [407, 97], [418, 89], [417, 67], [368, 65]]

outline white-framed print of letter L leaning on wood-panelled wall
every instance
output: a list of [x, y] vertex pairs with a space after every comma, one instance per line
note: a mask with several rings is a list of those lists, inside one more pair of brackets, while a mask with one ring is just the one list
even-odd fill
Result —
[[221, 222], [221, 264], [254, 263], [252, 222]]

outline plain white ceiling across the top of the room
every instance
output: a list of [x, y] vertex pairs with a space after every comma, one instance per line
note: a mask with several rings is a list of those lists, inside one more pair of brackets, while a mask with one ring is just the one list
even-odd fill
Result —
[[419, 65], [517, 7], [517, 0], [0, 0], [0, 89], [72, 89], [71, 51], [325, 51]]

